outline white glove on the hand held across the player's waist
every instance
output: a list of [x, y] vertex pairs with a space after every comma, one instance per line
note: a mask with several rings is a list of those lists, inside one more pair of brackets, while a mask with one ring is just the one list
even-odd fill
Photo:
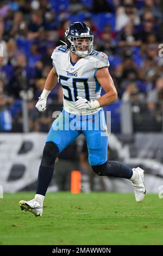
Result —
[[99, 102], [98, 100], [91, 100], [88, 101], [86, 99], [82, 99], [82, 97], [77, 97], [77, 101], [74, 103], [74, 107], [80, 109], [80, 110], [89, 110], [89, 109], [96, 109], [99, 108]]

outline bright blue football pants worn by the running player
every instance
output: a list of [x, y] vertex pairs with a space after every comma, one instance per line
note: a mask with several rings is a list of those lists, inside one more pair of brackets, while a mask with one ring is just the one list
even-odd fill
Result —
[[103, 108], [89, 115], [74, 115], [65, 110], [54, 120], [46, 142], [57, 145], [59, 153], [81, 133], [85, 136], [91, 166], [108, 160], [108, 135]]

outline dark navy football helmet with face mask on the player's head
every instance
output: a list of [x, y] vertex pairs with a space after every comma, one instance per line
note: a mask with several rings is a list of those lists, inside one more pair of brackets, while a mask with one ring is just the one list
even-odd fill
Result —
[[66, 29], [65, 42], [67, 48], [81, 58], [88, 56], [93, 51], [91, 29], [83, 22], [74, 22]]

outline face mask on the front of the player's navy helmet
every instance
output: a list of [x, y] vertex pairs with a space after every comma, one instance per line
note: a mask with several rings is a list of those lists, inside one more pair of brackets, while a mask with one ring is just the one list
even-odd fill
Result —
[[[67, 36], [70, 42], [70, 51], [83, 58], [88, 56], [93, 51], [93, 35]], [[85, 40], [85, 44], [82, 44]]]

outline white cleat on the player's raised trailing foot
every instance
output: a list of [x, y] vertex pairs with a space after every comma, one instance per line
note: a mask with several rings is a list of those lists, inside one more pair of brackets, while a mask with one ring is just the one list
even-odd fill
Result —
[[135, 172], [139, 174], [139, 179], [137, 181], [131, 181], [134, 187], [136, 202], [141, 202], [145, 198], [146, 187], [144, 182], [144, 170], [140, 167], [133, 168]]

